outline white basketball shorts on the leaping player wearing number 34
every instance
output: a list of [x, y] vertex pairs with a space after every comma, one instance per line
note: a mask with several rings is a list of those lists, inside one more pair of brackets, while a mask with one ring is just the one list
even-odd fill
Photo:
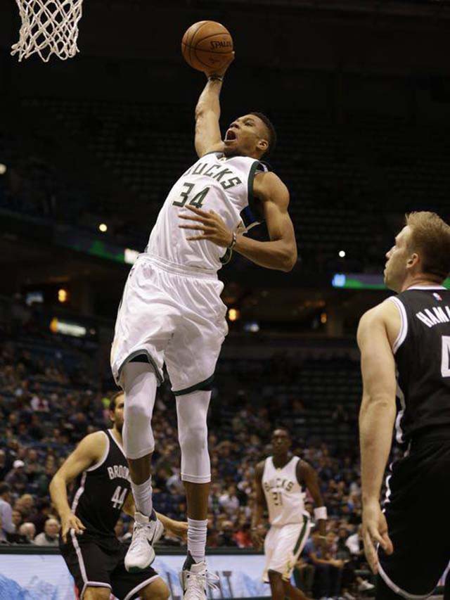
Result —
[[228, 333], [224, 284], [217, 274], [141, 254], [129, 272], [115, 324], [111, 369], [120, 385], [124, 364], [146, 355], [175, 395], [209, 389]]

